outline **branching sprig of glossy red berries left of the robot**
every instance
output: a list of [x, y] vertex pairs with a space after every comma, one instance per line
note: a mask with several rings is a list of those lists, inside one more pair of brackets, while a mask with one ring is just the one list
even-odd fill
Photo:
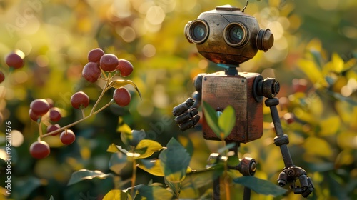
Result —
[[[56, 136], [61, 132], [59, 136], [61, 142], [65, 145], [72, 144], [76, 140], [76, 135], [73, 131], [71, 131], [71, 129], [69, 129], [71, 126], [74, 126], [90, 116], [99, 113], [99, 111], [102, 111], [111, 104], [118, 104], [119, 106], [129, 105], [131, 101], [131, 94], [129, 93], [129, 90], [124, 87], [125, 85], [131, 84], [134, 86], [136, 91], [138, 91], [139, 96], [141, 96], [139, 89], [137, 89], [136, 85], [132, 81], [113, 79], [114, 76], [126, 77], [131, 74], [134, 67], [129, 61], [118, 59], [114, 54], [104, 54], [104, 51], [99, 48], [89, 51], [88, 61], [89, 62], [82, 70], [82, 76], [84, 79], [92, 83], [98, 81], [99, 79], [106, 81], [106, 86], [103, 91], [101, 91], [101, 95], [96, 100], [96, 103], [92, 107], [88, 116], [85, 116], [84, 109], [89, 106], [90, 101], [89, 96], [83, 91], [78, 91], [71, 96], [71, 105], [74, 109], [82, 111], [83, 118], [63, 127], [56, 124], [56, 122], [61, 119], [61, 111], [59, 108], [51, 105], [51, 100], [35, 99], [31, 102], [29, 116], [39, 125], [38, 141], [35, 141], [30, 146], [30, 154], [34, 158], [43, 159], [50, 153], [49, 144], [47, 144], [46, 141], [42, 141], [42, 138], [46, 136]], [[104, 96], [104, 93], [111, 88], [115, 89], [113, 99], [100, 109], [96, 110], [96, 106]], [[42, 134], [41, 130], [44, 122], [46, 122], [45, 124], [49, 124], [47, 126], [46, 134]]]

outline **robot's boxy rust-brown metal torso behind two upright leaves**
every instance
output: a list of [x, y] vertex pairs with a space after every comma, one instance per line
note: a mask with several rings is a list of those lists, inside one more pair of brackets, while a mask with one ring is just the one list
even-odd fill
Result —
[[[263, 134], [263, 104], [253, 97], [253, 80], [260, 74], [242, 72], [228, 76], [223, 71], [203, 77], [202, 99], [216, 109], [223, 111], [233, 106], [236, 111], [236, 126], [226, 141], [246, 143], [258, 139]], [[208, 126], [203, 109], [203, 137], [218, 140]]]

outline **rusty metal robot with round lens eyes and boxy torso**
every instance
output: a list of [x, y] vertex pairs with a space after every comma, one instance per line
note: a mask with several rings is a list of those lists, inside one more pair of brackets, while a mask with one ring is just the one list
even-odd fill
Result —
[[[261, 74], [238, 72], [239, 64], [252, 59], [258, 50], [268, 51], [273, 46], [273, 34], [270, 29], [260, 29], [258, 21], [253, 16], [244, 14], [239, 8], [225, 5], [206, 11], [198, 19], [188, 21], [184, 34], [188, 42], [196, 44], [198, 53], [224, 71], [213, 74], [198, 74], [193, 85], [196, 91], [193, 98], [188, 98], [182, 104], [174, 107], [178, 128], [181, 131], [190, 129], [200, 121], [198, 107], [205, 101], [217, 114], [228, 105], [236, 111], [236, 125], [226, 138], [227, 143], [236, 143], [236, 153], [241, 143], [247, 143], [261, 138], [263, 134], [263, 98], [265, 105], [271, 110], [276, 137], [274, 144], [279, 146], [285, 168], [278, 176], [278, 185], [285, 186], [292, 183], [291, 189], [295, 194], [307, 197], [313, 191], [313, 183], [306, 176], [306, 171], [295, 166], [288, 151], [288, 136], [283, 134], [281, 121], [276, 106], [279, 104], [276, 94], [280, 84], [273, 78], [263, 79]], [[203, 138], [220, 140], [208, 126], [205, 110], [202, 110]], [[219, 159], [218, 154], [211, 154], [210, 159]], [[253, 176], [256, 171], [256, 161], [250, 158], [241, 159], [237, 169], [243, 176]], [[300, 182], [300, 186], [296, 184]], [[214, 182], [213, 182], [214, 184]], [[214, 189], [213, 189], [214, 190]], [[250, 191], [246, 192], [250, 196]], [[219, 191], [213, 191], [213, 193]], [[213, 194], [213, 199], [216, 194]]]

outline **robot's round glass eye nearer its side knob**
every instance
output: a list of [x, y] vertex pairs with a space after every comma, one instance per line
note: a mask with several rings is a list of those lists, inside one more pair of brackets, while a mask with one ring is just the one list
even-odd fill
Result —
[[224, 28], [223, 38], [229, 46], [244, 46], [248, 41], [248, 30], [241, 23], [231, 23]]

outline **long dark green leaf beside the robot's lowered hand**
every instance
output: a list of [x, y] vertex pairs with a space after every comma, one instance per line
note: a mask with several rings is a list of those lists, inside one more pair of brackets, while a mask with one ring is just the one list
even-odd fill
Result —
[[241, 176], [233, 179], [233, 182], [246, 186], [258, 194], [281, 196], [287, 191], [286, 189], [271, 183], [271, 181], [258, 179], [254, 176]]

